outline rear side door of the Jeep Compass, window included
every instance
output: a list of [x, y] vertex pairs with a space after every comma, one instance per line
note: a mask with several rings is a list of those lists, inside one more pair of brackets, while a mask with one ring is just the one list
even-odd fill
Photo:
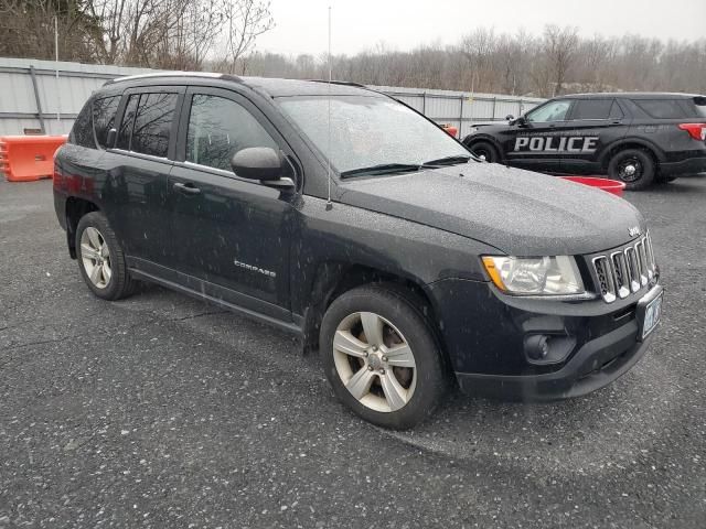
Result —
[[127, 90], [118, 115], [117, 141], [106, 153], [109, 177], [104, 194], [115, 204], [129, 266], [163, 274], [172, 266], [168, 176], [172, 169], [183, 87], [145, 87]]

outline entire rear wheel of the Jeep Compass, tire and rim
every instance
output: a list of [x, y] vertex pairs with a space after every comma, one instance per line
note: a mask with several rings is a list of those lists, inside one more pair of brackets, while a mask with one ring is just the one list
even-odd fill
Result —
[[98, 298], [115, 301], [132, 293], [135, 283], [125, 253], [103, 213], [88, 213], [78, 220], [76, 260], [81, 276]]

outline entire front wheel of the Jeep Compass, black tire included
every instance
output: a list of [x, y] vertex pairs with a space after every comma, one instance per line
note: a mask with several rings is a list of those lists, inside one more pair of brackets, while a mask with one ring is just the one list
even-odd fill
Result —
[[[447, 389], [441, 349], [421, 306], [405, 290], [368, 285], [342, 294], [323, 316], [327, 378], [336, 397], [373, 424], [411, 428], [431, 414]], [[377, 337], [368, 339], [365, 328]]]

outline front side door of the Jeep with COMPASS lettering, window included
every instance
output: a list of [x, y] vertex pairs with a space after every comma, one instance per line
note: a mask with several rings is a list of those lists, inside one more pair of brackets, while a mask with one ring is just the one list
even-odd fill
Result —
[[[296, 195], [238, 177], [231, 159], [249, 147], [285, 148], [245, 97], [193, 87], [184, 99], [178, 162], [169, 176], [181, 281], [279, 320], [289, 312]], [[277, 139], [276, 139], [277, 138]]]

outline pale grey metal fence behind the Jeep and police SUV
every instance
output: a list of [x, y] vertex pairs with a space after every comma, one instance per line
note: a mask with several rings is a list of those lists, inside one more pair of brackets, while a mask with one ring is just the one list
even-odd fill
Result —
[[[156, 71], [0, 57], [0, 136], [65, 134], [84, 101], [106, 80], [150, 72]], [[372, 88], [396, 97], [438, 123], [457, 126], [461, 138], [473, 123], [518, 116], [543, 101], [498, 94], [394, 86]]]

